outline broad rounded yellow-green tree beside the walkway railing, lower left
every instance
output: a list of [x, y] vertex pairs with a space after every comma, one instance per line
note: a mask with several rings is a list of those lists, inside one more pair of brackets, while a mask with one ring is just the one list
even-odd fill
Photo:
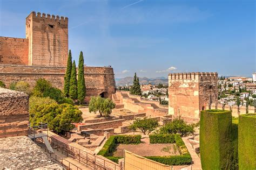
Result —
[[31, 125], [47, 123], [50, 130], [63, 133], [75, 128], [73, 123], [82, 122], [82, 112], [70, 104], [42, 104], [30, 110]]

